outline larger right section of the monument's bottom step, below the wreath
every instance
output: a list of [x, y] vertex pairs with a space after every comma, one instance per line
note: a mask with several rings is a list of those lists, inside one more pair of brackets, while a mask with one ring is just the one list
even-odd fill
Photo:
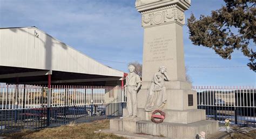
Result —
[[150, 135], [163, 135], [171, 138], [196, 138], [196, 135], [204, 131], [210, 135], [218, 131], [218, 121], [203, 120], [199, 122], [181, 124], [181, 123], [153, 123], [151, 121], [138, 121], [137, 132]]

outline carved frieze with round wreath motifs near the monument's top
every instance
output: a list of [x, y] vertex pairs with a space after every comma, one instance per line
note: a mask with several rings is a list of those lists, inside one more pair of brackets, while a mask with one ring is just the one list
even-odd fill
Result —
[[181, 26], [185, 24], [184, 11], [176, 4], [142, 12], [143, 27], [171, 23], [177, 23]]

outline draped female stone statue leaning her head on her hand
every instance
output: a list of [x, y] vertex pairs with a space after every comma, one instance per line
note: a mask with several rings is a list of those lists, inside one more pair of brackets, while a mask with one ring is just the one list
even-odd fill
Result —
[[156, 109], [163, 109], [166, 103], [166, 87], [165, 81], [170, 81], [166, 74], [166, 68], [161, 66], [159, 71], [154, 74], [149, 91], [147, 93], [147, 101], [145, 106], [146, 112], [151, 112]]

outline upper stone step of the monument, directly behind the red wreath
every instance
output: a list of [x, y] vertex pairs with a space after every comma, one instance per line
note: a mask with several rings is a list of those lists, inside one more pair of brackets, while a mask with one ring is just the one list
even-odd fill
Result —
[[[164, 109], [165, 122], [173, 123], [192, 123], [206, 119], [205, 109], [190, 109], [185, 111]], [[123, 108], [123, 116], [128, 114], [127, 109]], [[143, 108], [137, 109], [138, 118], [141, 120], [151, 120], [152, 112], [145, 112]]]

